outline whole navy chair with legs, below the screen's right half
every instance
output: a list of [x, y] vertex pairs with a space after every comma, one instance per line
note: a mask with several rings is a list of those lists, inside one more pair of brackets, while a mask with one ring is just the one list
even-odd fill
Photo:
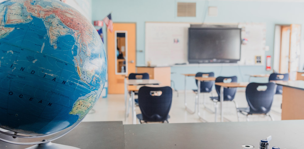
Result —
[[[215, 79], [215, 82], [225, 82], [225, 80], [231, 79], [231, 82], [237, 82], [237, 76], [219, 76]], [[221, 86], [215, 85], [216, 93], [218, 94], [218, 97], [210, 97], [210, 99], [213, 101], [214, 108], [215, 108], [215, 120], [217, 116], [217, 103], [220, 101], [220, 90]], [[224, 88], [224, 101], [232, 101], [236, 109], [239, 108], [236, 101], [234, 101], [234, 97], [236, 95], [236, 88]]]

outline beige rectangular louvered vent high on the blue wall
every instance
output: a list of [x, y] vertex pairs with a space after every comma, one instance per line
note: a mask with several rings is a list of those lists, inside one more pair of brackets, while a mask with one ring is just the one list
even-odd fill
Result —
[[196, 3], [195, 2], [178, 2], [177, 3], [177, 16], [196, 16]]

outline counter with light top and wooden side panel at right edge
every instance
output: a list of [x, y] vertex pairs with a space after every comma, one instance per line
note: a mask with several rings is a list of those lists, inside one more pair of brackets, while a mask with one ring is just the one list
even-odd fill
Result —
[[282, 120], [304, 119], [304, 81], [276, 82], [283, 86]]

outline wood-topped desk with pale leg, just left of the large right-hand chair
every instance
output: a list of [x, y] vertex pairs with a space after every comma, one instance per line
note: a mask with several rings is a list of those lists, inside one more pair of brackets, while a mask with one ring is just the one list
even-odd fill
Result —
[[[220, 103], [221, 103], [221, 122], [224, 121], [223, 117], [223, 102], [224, 102], [224, 87], [225, 88], [232, 88], [232, 87], [247, 87], [249, 83], [236, 83], [236, 82], [230, 82], [230, 83], [224, 83], [224, 82], [216, 82], [215, 85], [221, 86], [220, 88]], [[216, 122], [216, 115], [215, 115], [215, 122]]]

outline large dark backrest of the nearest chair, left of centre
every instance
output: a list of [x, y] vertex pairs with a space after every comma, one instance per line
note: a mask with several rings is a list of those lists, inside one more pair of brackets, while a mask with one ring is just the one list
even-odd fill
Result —
[[[161, 95], [157, 95], [161, 92]], [[138, 90], [138, 105], [144, 121], [167, 120], [172, 104], [171, 87], [141, 87]]]

